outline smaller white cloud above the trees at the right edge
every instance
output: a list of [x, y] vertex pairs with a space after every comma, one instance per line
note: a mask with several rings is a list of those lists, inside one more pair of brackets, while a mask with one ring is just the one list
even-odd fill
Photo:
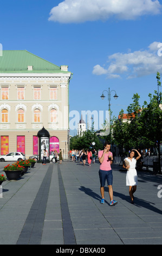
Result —
[[102, 68], [99, 64], [95, 65], [93, 74], [105, 74], [108, 78], [121, 78], [122, 75], [134, 78], [156, 74], [157, 71], [162, 72], [162, 56], [158, 55], [159, 44], [160, 42], [152, 42], [148, 46], [148, 50], [114, 53], [108, 57], [107, 68]]

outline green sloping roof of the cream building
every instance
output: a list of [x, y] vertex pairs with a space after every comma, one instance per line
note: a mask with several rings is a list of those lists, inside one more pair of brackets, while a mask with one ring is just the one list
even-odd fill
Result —
[[[61, 71], [60, 66], [48, 62], [26, 50], [3, 51], [0, 56], [0, 73], [53, 73]], [[33, 70], [28, 70], [33, 66]]]

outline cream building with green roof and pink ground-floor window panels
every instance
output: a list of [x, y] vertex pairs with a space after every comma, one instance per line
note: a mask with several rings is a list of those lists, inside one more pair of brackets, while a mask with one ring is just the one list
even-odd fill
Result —
[[68, 66], [56, 66], [28, 51], [3, 51], [0, 57], [1, 155], [36, 154], [37, 132], [50, 133], [50, 154], [69, 146]]

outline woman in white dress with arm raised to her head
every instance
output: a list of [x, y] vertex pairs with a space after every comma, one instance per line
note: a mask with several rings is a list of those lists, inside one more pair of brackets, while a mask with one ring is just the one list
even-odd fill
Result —
[[[136, 157], [136, 152], [138, 156]], [[134, 203], [134, 192], [137, 190], [137, 170], [135, 169], [137, 160], [140, 159], [141, 154], [136, 149], [132, 149], [129, 156], [124, 160], [123, 167], [127, 169], [126, 186], [129, 186], [129, 195], [131, 203]]]

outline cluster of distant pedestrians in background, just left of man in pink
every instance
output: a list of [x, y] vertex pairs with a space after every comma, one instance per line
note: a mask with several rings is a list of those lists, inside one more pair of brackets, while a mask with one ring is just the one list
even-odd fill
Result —
[[90, 166], [91, 162], [95, 163], [96, 150], [88, 149], [86, 151], [85, 149], [82, 149], [82, 150], [72, 149], [72, 162], [73, 161], [79, 162], [79, 159], [80, 159], [80, 163], [82, 163], [82, 161], [83, 161], [83, 166], [85, 166], [86, 158], [88, 160], [88, 166]]

